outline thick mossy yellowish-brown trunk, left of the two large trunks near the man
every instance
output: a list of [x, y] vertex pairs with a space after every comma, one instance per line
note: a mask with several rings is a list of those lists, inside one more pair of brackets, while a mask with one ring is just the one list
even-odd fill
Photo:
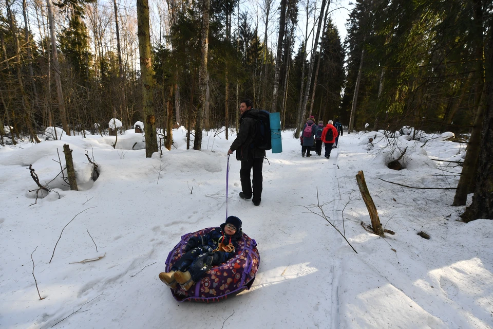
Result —
[[149, 3], [137, 0], [137, 35], [139, 36], [140, 71], [142, 79], [142, 112], [145, 131], [145, 156], [158, 151], [156, 117], [154, 115], [154, 70], [150, 53]]

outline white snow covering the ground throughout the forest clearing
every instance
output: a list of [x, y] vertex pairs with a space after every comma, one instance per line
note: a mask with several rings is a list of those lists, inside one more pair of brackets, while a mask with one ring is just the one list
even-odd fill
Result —
[[[252, 289], [219, 303], [176, 302], [158, 274], [181, 235], [224, 222], [226, 153], [235, 134], [226, 140], [224, 132], [204, 132], [202, 151], [194, 151], [186, 150], [183, 127], [173, 133], [172, 151], [152, 158], [132, 130], [115, 149], [115, 136], [98, 135], [0, 148], [0, 327], [493, 326], [493, 222], [461, 222], [464, 207], [450, 206], [454, 190], [381, 180], [456, 186], [461, 167], [433, 159], [458, 161], [465, 144], [433, 134], [419, 141], [396, 134], [387, 145], [383, 132], [345, 133], [327, 160], [302, 158], [299, 140], [283, 132], [283, 153], [268, 152], [263, 164], [259, 207], [238, 196], [233, 154], [227, 212], [258, 243], [257, 277]], [[59, 175], [57, 149], [65, 165], [65, 143], [79, 192]], [[404, 169], [388, 169], [406, 147]], [[99, 166], [96, 181], [86, 152]], [[37, 188], [29, 165], [49, 182], [45, 198], [28, 192]], [[359, 170], [382, 225], [395, 235], [368, 231]]]

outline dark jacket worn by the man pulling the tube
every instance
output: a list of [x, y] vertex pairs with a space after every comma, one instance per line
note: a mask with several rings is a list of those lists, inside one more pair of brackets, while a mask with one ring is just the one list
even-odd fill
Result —
[[236, 139], [231, 144], [231, 151], [236, 151], [236, 160], [252, 160], [266, 156], [266, 150], [254, 147], [253, 139], [255, 138], [255, 116], [258, 109], [252, 108], [245, 111], [240, 118], [240, 131]]

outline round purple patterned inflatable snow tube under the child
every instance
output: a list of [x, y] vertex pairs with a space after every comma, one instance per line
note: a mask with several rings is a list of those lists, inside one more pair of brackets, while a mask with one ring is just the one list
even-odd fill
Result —
[[[186, 246], [191, 236], [199, 236], [208, 233], [215, 227], [205, 228], [203, 230], [188, 233], [181, 237], [181, 241], [169, 252], [166, 259], [166, 272], [169, 272], [184, 253], [183, 248]], [[179, 302], [196, 301], [196, 302], [217, 302], [227, 297], [241, 293], [244, 289], [250, 289], [255, 280], [260, 255], [257, 250], [255, 240], [243, 233], [238, 240], [238, 249], [233, 258], [229, 261], [212, 267], [208, 270], [202, 279], [193, 285], [187, 291], [184, 291], [180, 285], [171, 289], [173, 297]]]

